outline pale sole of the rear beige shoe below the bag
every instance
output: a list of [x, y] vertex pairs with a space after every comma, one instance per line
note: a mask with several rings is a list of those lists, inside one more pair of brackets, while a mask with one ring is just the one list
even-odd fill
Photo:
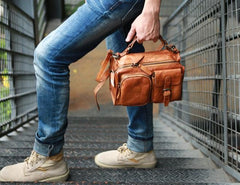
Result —
[[157, 162], [144, 163], [144, 164], [133, 164], [133, 165], [106, 165], [94, 159], [96, 165], [101, 168], [155, 168]]

